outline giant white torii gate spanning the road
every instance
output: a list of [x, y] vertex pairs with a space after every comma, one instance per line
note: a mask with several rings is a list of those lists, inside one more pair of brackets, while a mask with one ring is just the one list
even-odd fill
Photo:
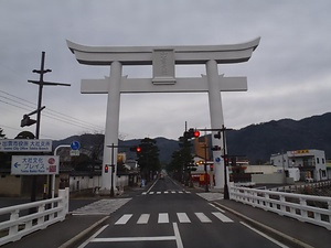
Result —
[[[217, 64], [247, 62], [259, 40], [203, 46], [85, 46], [67, 41], [67, 46], [81, 64], [110, 66], [109, 77], [82, 79], [81, 85], [83, 94], [108, 94], [103, 169], [111, 160], [107, 145], [118, 144], [121, 93], [209, 93], [211, 128], [220, 129], [224, 125], [220, 91], [247, 90], [247, 78], [218, 75]], [[177, 78], [175, 64], [205, 64], [206, 76]], [[122, 65], [152, 65], [152, 78], [124, 77]], [[212, 136], [213, 145], [222, 148], [221, 151], [213, 151], [215, 187], [218, 188], [224, 185], [224, 162], [216, 159], [223, 152], [222, 139]], [[114, 158], [117, 158], [117, 149]], [[111, 173], [103, 170], [102, 190], [110, 190], [110, 177]], [[113, 183], [115, 187], [116, 180]]]

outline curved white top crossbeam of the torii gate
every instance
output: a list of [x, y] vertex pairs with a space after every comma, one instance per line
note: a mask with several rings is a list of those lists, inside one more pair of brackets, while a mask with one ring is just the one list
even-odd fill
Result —
[[218, 64], [241, 63], [250, 58], [260, 37], [250, 42], [229, 45], [196, 46], [86, 46], [67, 41], [67, 46], [81, 64], [110, 65], [114, 61], [122, 65], [151, 65], [153, 53], [172, 53], [175, 64], [205, 64], [216, 61]]

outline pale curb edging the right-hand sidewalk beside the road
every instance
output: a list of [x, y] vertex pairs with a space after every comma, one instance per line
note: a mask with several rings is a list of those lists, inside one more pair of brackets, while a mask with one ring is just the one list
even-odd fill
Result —
[[277, 239], [278, 241], [281, 241], [284, 242], [285, 245], [288, 245], [290, 247], [298, 247], [298, 248], [313, 248], [312, 246], [303, 242], [303, 241], [300, 241], [293, 237], [290, 237], [279, 230], [276, 230], [269, 226], [266, 226], [261, 223], [258, 223], [234, 209], [231, 209], [224, 205], [222, 205], [221, 203], [217, 203], [217, 202], [213, 202], [214, 204], [216, 204], [217, 206], [222, 207], [223, 209], [236, 215], [237, 217], [244, 219], [246, 223], [249, 223], [252, 226], [254, 226], [255, 228], [264, 231], [265, 234], [268, 234], [270, 236], [273, 236], [275, 239]]

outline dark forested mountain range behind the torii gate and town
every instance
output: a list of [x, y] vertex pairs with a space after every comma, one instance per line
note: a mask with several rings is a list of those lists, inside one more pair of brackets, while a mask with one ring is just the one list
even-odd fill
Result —
[[[82, 134], [53, 141], [53, 144], [56, 147], [77, 140], [84, 147], [92, 147], [96, 142], [103, 142], [103, 134]], [[161, 163], [169, 163], [172, 153], [179, 150], [179, 141], [162, 137], [154, 140], [160, 150]], [[226, 132], [226, 141], [229, 155], [246, 157], [250, 164], [268, 162], [274, 153], [301, 149], [323, 150], [328, 159], [331, 158], [331, 112], [301, 120], [271, 120], [238, 130], [229, 130]], [[119, 145], [124, 147], [139, 143], [139, 139], [119, 141]], [[135, 158], [134, 152], [127, 148], [121, 148], [119, 151], [126, 151], [128, 159]]]

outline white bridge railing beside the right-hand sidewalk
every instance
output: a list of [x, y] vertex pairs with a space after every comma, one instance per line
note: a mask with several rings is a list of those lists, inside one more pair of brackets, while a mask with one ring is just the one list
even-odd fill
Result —
[[331, 230], [331, 197], [229, 186], [229, 198]]

